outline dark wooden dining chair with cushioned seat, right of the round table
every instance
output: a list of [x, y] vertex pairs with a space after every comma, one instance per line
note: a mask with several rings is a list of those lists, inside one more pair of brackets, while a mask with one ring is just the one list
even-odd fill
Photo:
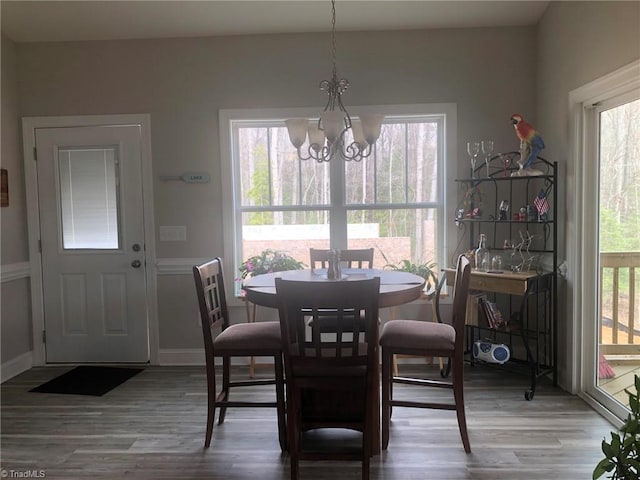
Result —
[[[420, 320], [393, 320], [387, 322], [380, 334], [382, 346], [382, 448], [389, 445], [389, 430], [392, 407], [436, 408], [455, 410], [462, 444], [471, 452], [464, 409], [464, 325], [471, 280], [469, 260], [458, 258], [453, 286], [453, 307], [448, 323], [423, 322]], [[419, 355], [447, 358], [452, 368], [451, 381], [396, 377], [392, 373], [393, 355]], [[453, 390], [453, 402], [431, 402], [428, 399], [396, 400], [393, 398], [394, 384], [420, 385]]]

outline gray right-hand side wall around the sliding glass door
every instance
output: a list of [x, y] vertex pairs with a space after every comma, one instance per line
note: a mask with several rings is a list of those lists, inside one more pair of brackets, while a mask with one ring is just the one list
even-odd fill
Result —
[[[559, 163], [560, 258], [577, 233], [572, 199], [575, 166], [569, 158], [569, 92], [640, 58], [639, 2], [552, 2], [538, 31], [538, 129], [545, 155]], [[594, 166], [595, 168], [595, 166]], [[575, 266], [569, 265], [569, 273]], [[568, 385], [573, 349], [571, 299], [574, 279], [560, 283], [559, 366]]]

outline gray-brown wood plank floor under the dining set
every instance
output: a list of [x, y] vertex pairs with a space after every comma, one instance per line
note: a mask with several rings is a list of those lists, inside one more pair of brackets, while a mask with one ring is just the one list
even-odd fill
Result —
[[[273, 409], [230, 410], [203, 448], [204, 368], [148, 367], [103, 397], [29, 392], [67, 370], [35, 368], [2, 385], [3, 477], [289, 479]], [[395, 408], [389, 449], [372, 459], [373, 480], [591, 478], [612, 429], [606, 420], [549, 382], [527, 402], [525, 377], [480, 366], [466, 372], [472, 453], [464, 453], [454, 412]], [[256, 397], [274, 396], [252, 388]], [[360, 466], [302, 462], [301, 478], [359, 479]]]

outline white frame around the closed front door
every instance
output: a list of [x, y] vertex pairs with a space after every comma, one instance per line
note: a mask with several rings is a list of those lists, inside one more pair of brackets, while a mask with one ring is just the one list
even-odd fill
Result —
[[38, 184], [35, 159], [35, 129], [56, 127], [88, 127], [100, 125], [139, 125], [142, 132], [142, 197], [144, 202], [144, 235], [147, 307], [149, 315], [149, 358], [152, 365], [158, 364], [158, 313], [156, 283], [156, 249], [153, 216], [153, 176], [151, 174], [151, 121], [148, 114], [134, 115], [87, 115], [61, 117], [25, 117], [22, 119], [24, 148], [24, 176], [27, 197], [27, 226], [29, 231], [29, 263], [31, 274], [31, 318], [33, 324], [33, 365], [45, 364], [44, 304], [42, 264], [39, 247], [40, 220], [38, 207]]

